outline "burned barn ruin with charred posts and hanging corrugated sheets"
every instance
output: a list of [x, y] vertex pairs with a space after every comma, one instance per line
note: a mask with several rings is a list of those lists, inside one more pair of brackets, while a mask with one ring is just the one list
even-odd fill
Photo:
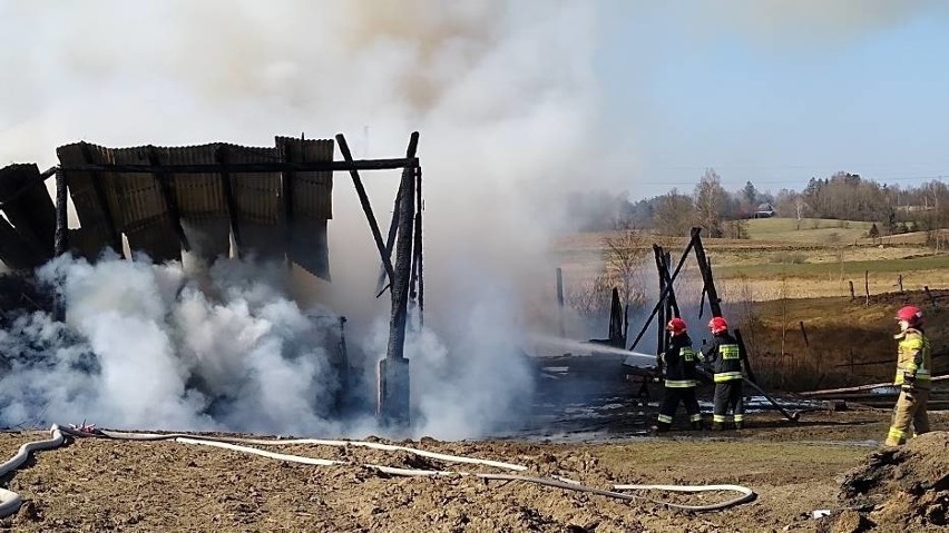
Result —
[[[404, 157], [362, 160], [353, 159], [342, 135], [276, 137], [273, 147], [109, 148], [81, 141], [59, 147], [59, 164], [45, 171], [35, 164], [10, 165], [0, 169], [0, 260], [11, 272], [3, 276], [9, 289], [0, 288], [3, 309], [22, 307], [28, 299], [62, 318], [68, 303], [43, 299], [29, 288], [33, 270], [63, 254], [96, 261], [109, 249], [128, 259], [126, 250], [145, 253], [155, 263], [182, 260], [185, 253], [207, 265], [219, 257], [277, 260], [330, 280], [326, 230], [333, 218], [333, 178], [346, 171], [392, 304], [388, 351], [378, 368], [376, 414], [405, 424], [409, 300], [421, 313], [424, 290], [418, 139], [418, 132], [410, 136]], [[336, 147], [341, 160], [334, 159]], [[402, 169], [388, 234], [379, 227], [360, 176], [383, 169]], [[55, 200], [45, 186], [51, 178]], [[70, 201], [76, 228], [69, 227]], [[344, 322], [340, 319], [335, 340], [342, 364]]]

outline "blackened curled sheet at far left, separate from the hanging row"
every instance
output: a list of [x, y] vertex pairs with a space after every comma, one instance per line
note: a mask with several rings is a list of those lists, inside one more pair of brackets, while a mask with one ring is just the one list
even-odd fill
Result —
[[0, 169], [0, 197], [9, 198], [22, 191], [6, 203], [3, 213], [17, 233], [30, 243], [36, 255], [33, 266], [52, 257], [56, 233], [56, 207], [39, 176], [39, 168], [33, 164]]

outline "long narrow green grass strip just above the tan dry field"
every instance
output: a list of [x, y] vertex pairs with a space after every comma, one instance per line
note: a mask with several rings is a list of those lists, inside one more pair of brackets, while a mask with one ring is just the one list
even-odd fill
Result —
[[[906, 273], [913, 270], [936, 270], [949, 268], [949, 255], [910, 257], [906, 259], [882, 259], [843, 261], [843, 274]], [[715, 276], [723, 278], [749, 277], [761, 278], [772, 276], [818, 277], [829, 274], [840, 274], [841, 264], [829, 263], [767, 263], [757, 265], [735, 265], [715, 267]]]

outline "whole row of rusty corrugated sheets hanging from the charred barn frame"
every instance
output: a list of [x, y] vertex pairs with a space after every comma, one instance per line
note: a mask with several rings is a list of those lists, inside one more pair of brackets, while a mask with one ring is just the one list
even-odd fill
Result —
[[[63, 167], [91, 164], [188, 165], [214, 164], [218, 150], [232, 164], [319, 161], [333, 159], [330, 139], [276, 138], [274, 148], [226, 144], [192, 147], [135, 147], [110, 149], [94, 145], [68, 145], [57, 151]], [[88, 157], [86, 154], [88, 152]], [[288, 155], [288, 157], [287, 157]], [[158, 179], [167, 180], [180, 224], [194, 251], [205, 259], [229, 250], [231, 220], [219, 174], [164, 175], [136, 172], [67, 174], [70, 195], [82, 228], [74, 235], [74, 247], [95, 258], [112, 237], [106, 209], [117, 231], [128, 236], [129, 246], [155, 260], [180, 258], [168, 201]], [[231, 175], [236, 224], [242, 253], [264, 259], [284, 259], [329, 279], [326, 220], [332, 218], [332, 172], [247, 172]], [[94, 186], [98, 179], [105, 201]], [[286, 180], [286, 181], [285, 181]], [[284, 201], [284, 187], [292, 201]], [[105, 205], [104, 205], [105, 204]], [[286, 225], [286, 221], [292, 224]]]

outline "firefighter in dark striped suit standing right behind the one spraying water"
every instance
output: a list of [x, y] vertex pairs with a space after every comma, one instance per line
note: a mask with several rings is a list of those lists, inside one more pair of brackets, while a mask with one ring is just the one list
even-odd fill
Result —
[[728, 323], [721, 316], [708, 323], [712, 342], [702, 351], [703, 358], [711, 365], [715, 382], [715, 399], [712, 411], [712, 430], [724, 430], [731, 422], [735, 430], [744, 423], [744, 399], [742, 392], [742, 358], [738, 342], [728, 333]]

